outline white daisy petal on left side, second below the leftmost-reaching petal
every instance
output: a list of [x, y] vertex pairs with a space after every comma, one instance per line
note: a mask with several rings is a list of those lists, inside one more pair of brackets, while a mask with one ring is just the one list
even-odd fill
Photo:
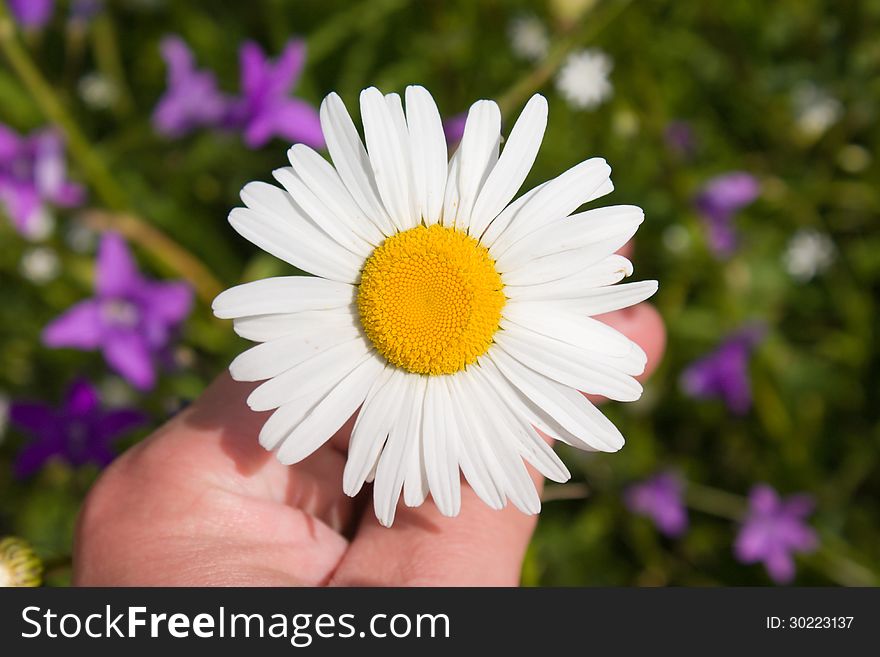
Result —
[[322, 327], [313, 323], [307, 331], [263, 342], [240, 353], [229, 365], [229, 373], [236, 381], [271, 379], [330, 347], [351, 342], [360, 335], [361, 329], [355, 323], [336, 327]]

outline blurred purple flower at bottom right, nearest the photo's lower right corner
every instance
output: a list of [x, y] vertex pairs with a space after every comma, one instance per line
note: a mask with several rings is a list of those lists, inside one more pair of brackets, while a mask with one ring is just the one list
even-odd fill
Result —
[[774, 582], [786, 584], [794, 579], [793, 552], [816, 549], [816, 532], [804, 522], [813, 511], [808, 495], [792, 495], [785, 500], [767, 484], [749, 494], [749, 513], [734, 544], [734, 554], [742, 563], [763, 562]]

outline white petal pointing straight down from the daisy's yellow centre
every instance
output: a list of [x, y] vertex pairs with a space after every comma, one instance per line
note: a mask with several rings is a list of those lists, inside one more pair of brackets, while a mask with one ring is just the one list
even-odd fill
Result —
[[461, 484], [456, 456], [456, 430], [444, 384], [428, 377], [422, 415], [424, 466], [431, 497], [444, 516], [461, 509]]

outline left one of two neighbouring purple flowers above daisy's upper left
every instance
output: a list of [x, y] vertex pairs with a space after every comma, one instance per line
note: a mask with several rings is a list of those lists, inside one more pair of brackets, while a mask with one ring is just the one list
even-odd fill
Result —
[[196, 68], [192, 52], [178, 36], [166, 37], [160, 48], [168, 66], [168, 89], [153, 110], [156, 132], [176, 138], [219, 125], [229, 100], [217, 88], [214, 74]]

